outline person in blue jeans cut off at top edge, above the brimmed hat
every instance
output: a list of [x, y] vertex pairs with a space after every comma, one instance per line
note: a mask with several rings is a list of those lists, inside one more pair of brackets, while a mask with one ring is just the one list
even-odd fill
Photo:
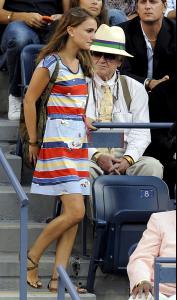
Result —
[[110, 25], [119, 25], [137, 16], [135, 0], [107, 0]]

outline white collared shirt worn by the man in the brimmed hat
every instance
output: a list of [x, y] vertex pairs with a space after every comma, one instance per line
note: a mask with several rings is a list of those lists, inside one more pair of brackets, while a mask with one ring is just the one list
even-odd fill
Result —
[[[114, 77], [107, 81], [106, 83], [112, 89], [115, 97], [117, 97], [117, 88], [115, 88], [116, 74]], [[119, 80], [119, 91], [118, 99], [114, 102], [113, 109], [113, 122], [127, 122], [127, 123], [149, 123], [149, 106], [148, 106], [148, 94], [144, 86], [138, 81], [127, 77], [127, 84], [129, 87], [130, 95], [132, 97], [132, 102], [130, 106], [130, 111], [128, 111], [127, 104], [124, 99], [124, 93]], [[102, 89], [101, 86], [105, 82], [99, 77], [94, 78], [96, 85], [96, 101], [97, 106], [100, 106], [100, 101], [102, 99]], [[86, 115], [94, 120], [97, 120], [96, 105], [94, 100], [94, 93], [92, 87], [92, 80], [88, 80], [89, 85], [89, 101]], [[144, 154], [144, 151], [151, 142], [151, 135], [149, 129], [127, 129], [124, 131], [124, 142], [125, 142], [125, 155], [130, 155], [134, 161], [138, 161], [140, 157]], [[97, 152], [96, 149], [89, 149], [89, 157], [91, 158], [93, 154]]]

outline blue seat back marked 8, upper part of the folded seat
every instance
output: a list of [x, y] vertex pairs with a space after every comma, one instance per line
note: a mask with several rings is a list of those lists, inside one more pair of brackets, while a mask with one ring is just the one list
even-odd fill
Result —
[[166, 183], [153, 176], [100, 176], [93, 183], [94, 217], [111, 221], [117, 212], [168, 210]]

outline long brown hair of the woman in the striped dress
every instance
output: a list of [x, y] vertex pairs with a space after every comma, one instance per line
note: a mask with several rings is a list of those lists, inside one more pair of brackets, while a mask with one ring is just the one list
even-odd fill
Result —
[[[67, 11], [61, 18], [55, 33], [51, 37], [49, 43], [41, 50], [37, 58], [37, 62], [44, 59], [47, 55], [63, 50], [69, 38], [67, 28], [69, 26], [77, 27], [85, 22], [88, 18], [95, 18], [86, 10], [82, 8], [72, 8]], [[87, 50], [80, 50], [78, 59], [82, 66], [85, 76], [93, 76], [93, 63], [90, 52]]]

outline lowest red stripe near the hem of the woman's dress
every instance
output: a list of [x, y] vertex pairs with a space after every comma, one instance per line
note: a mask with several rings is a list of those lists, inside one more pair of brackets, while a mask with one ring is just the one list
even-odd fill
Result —
[[57, 178], [57, 177], [64, 177], [64, 176], [79, 176], [81, 178], [83, 177], [89, 177], [88, 171], [76, 171], [75, 169], [63, 169], [63, 170], [56, 170], [56, 171], [35, 171], [34, 177], [36, 178]]

